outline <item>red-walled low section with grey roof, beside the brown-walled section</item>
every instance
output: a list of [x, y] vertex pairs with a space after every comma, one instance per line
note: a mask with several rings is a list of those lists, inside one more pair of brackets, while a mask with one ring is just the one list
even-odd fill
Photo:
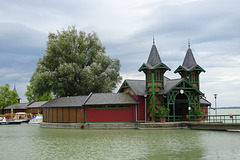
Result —
[[85, 122], [136, 122], [138, 101], [125, 93], [90, 94], [84, 104]]

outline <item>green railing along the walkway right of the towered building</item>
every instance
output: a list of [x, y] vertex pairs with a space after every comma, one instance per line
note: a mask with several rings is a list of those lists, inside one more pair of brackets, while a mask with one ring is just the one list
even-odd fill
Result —
[[240, 123], [240, 115], [190, 115], [189, 122]]

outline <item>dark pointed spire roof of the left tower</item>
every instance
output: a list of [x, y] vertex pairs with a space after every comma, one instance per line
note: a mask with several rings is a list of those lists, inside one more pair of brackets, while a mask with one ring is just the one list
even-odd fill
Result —
[[153, 44], [150, 55], [148, 57], [147, 65], [149, 66], [149, 68], [153, 68], [154, 66], [161, 64], [161, 63], [162, 63], [162, 61], [158, 54], [157, 47], [155, 44]]

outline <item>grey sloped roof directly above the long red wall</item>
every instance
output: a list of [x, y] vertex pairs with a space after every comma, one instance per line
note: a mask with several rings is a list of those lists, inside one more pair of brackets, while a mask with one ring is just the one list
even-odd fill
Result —
[[85, 105], [138, 104], [129, 93], [93, 93]]

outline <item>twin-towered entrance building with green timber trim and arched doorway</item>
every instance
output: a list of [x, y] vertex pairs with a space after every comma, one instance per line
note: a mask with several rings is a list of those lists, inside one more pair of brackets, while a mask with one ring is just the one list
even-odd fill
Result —
[[205, 70], [196, 63], [190, 44], [182, 65], [174, 72], [180, 74], [181, 78], [166, 77], [165, 72], [170, 70], [162, 62], [153, 42], [147, 63], [139, 68], [139, 72], [144, 72], [145, 80], [125, 80], [119, 92], [133, 95], [139, 101], [139, 108], [146, 105], [146, 109], [139, 114], [144, 114], [147, 121], [155, 121], [161, 107], [170, 110], [168, 121], [186, 120], [187, 115], [196, 114], [200, 108], [207, 115], [207, 107], [211, 104], [200, 91], [199, 76]]

